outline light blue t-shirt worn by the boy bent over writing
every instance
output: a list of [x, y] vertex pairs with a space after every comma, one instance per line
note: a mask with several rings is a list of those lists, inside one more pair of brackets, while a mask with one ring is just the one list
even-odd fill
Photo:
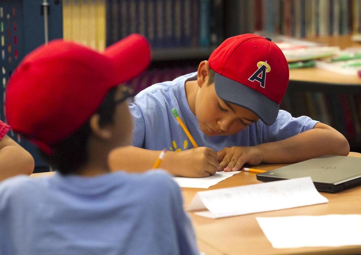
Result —
[[139, 92], [129, 108], [134, 121], [132, 145], [148, 150], [187, 150], [193, 148], [176, 118], [171, 113], [176, 108], [179, 117], [198, 146], [220, 151], [231, 146], [255, 146], [262, 143], [280, 141], [303, 131], [312, 129], [317, 121], [301, 116], [293, 118], [290, 113], [280, 110], [273, 125], [261, 120], [249, 125], [245, 130], [229, 136], [210, 137], [204, 134], [192, 113], [186, 98], [184, 83], [195, 80], [197, 73], [190, 73], [152, 85]]

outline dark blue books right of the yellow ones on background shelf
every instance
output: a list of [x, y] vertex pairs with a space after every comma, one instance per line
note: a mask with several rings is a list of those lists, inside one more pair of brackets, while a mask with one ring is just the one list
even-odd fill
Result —
[[207, 47], [222, 40], [211, 33], [221, 7], [221, 0], [107, 0], [106, 44], [139, 33], [153, 48]]

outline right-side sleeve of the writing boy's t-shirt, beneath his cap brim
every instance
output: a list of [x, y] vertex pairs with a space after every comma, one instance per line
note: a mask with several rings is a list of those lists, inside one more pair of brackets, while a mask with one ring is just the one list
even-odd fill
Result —
[[318, 121], [310, 117], [301, 116], [292, 117], [290, 113], [280, 110], [273, 125], [262, 125], [263, 143], [281, 141], [300, 134], [304, 131], [313, 129]]

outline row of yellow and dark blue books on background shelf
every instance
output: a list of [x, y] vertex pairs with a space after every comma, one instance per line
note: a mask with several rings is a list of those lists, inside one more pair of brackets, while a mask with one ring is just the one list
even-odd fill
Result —
[[144, 35], [152, 48], [208, 47], [223, 41], [223, 0], [63, 0], [62, 3], [63, 38], [98, 50], [132, 33]]

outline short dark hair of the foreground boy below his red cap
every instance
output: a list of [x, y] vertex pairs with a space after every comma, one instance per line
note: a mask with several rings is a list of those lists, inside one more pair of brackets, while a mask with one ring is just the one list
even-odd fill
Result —
[[[106, 94], [103, 102], [97, 109], [99, 114], [99, 126], [104, 127], [114, 122], [116, 103], [114, 101], [117, 87], [111, 88]], [[42, 150], [42, 157], [56, 170], [63, 175], [78, 173], [79, 169], [88, 161], [88, 139], [92, 130], [90, 120], [87, 120], [78, 130], [53, 144], [52, 155], [45, 154]]]

